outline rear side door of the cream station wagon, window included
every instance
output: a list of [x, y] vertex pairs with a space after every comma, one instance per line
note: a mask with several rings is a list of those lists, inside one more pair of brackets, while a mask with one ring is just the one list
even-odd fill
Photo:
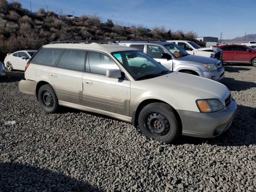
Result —
[[85, 50], [68, 49], [58, 65], [50, 70], [49, 78], [54, 84], [58, 100], [84, 105], [82, 77], [85, 57]]

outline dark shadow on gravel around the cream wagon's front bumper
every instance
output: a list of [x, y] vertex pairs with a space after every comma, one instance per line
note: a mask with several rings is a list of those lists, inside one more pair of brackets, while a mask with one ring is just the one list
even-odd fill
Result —
[[194, 138], [182, 136], [181, 144], [203, 144], [216, 146], [249, 146], [256, 144], [256, 108], [238, 105], [236, 117], [226, 132], [215, 138]]

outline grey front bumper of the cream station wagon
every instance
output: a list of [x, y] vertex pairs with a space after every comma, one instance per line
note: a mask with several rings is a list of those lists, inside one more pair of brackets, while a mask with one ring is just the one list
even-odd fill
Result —
[[236, 115], [236, 101], [214, 113], [177, 110], [182, 122], [182, 134], [192, 137], [212, 138], [226, 131]]

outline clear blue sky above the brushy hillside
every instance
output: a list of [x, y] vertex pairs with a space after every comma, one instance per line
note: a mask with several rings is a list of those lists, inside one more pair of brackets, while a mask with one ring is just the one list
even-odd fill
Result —
[[[230, 39], [256, 34], [256, 0], [18, 0], [32, 11], [43, 7], [64, 14], [96, 14], [119, 25], [194, 31], [198, 36]], [[9, 0], [10, 2], [10, 0]], [[44, 4], [45, 2], [45, 4]]]

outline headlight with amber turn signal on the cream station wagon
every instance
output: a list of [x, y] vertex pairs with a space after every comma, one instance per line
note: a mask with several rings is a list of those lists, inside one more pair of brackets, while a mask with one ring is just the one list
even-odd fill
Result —
[[198, 99], [196, 104], [202, 113], [212, 113], [224, 109], [224, 106], [218, 99]]

